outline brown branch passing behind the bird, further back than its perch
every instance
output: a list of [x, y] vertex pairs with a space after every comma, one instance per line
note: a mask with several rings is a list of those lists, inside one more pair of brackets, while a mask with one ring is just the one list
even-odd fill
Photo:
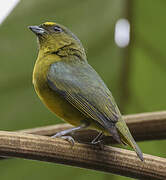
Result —
[[[127, 115], [123, 117], [136, 141], [166, 138], [166, 111]], [[69, 124], [60, 124], [21, 130], [19, 132], [51, 136], [71, 127]], [[98, 132], [93, 130], [82, 130], [75, 132], [71, 136], [78, 142], [90, 143], [97, 134]], [[115, 143], [110, 136], [105, 136], [104, 142], [105, 144]]]

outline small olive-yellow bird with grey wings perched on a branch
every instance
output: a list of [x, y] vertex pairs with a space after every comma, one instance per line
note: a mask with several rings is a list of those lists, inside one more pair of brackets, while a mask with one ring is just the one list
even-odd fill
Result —
[[103, 134], [112, 135], [118, 143], [133, 148], [143, 161], [143, 153], [111, 91], [88, 63], [78, 37], [56, 22], [29, 26], [29, 29], [37, 36], [39, 47], [33, 70], [34, 89], [50, 111], [74, 126], [53, 137], [74, 142], [71, 136], [67, 136], [68, 133], [95, 129], [99, 135], [92, 144], [101, 142]]

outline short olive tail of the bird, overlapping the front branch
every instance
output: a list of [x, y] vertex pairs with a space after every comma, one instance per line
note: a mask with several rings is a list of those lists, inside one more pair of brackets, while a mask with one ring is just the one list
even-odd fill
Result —
[[116, 123], [115, 126], [116, 126], [116, 129], [118, 131], [121, 141], [124, 144], [127, 144], [130, 147], [132, 147], [134, 149], [134, 151], [137, 153], [140, 160], [143, 161], [143, 154], [142, 154], [140, 148], [138, 147], [137, 143], [133, 139], [125, 121], [121, 118], [121, 119], [119, 119], [119, 121]]

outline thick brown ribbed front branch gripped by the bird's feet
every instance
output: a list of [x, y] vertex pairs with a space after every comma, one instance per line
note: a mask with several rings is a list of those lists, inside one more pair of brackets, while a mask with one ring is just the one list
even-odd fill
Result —
[[134, 152], [114, 147], [76, 143], [61, 138], [0, 131], [0, 155], [66, 164], [141, 179], [166, 179], [166, 160], [144, 154], [140, 161]]

